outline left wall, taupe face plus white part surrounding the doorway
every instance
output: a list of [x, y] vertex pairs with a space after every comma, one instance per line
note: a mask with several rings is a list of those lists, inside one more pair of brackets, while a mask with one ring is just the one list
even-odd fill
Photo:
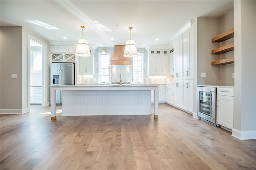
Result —
[[[28, 35], [41, 39], [35, 33], [22, 27], [0, 27], [1, 29], [1, 113], [26, 113], [29, 111], [29, 72], [28, 72]], [[46, 56], [50, 56], [46, 53]], [[46, 60], [46, 100], [49, 102], [49, 60]], [[18, 78], [11, 78], [17, 73]], [[7, 111], [7, 112], [6, 112]]]

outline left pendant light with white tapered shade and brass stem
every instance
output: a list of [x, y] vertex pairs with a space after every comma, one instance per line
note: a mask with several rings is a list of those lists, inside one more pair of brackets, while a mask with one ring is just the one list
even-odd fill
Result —
[[82, 39], [78, 39], [76, 46], [76, 56], [79, 57], [89, 57], [91, 56], [89, 45], [87, 40], [84, 39], [84, 28], [85, 26], [81, 26], [82, 28]]

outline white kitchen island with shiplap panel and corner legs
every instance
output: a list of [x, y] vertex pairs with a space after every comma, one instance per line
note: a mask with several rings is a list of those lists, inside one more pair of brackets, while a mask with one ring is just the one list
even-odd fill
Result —
[[154, 118], [158, 118], [158, 85], [50, 86], [51, 120], [56, 120], [56, 90], [62, 91], [62, 115], [149, 115], [154, 90]]

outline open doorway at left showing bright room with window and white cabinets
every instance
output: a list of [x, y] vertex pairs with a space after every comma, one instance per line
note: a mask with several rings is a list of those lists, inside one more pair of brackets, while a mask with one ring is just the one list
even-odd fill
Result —
[[29, 59], [28, 59], [28, 90], [29, 104], [46, 104], [46, 44], [28, 36]]

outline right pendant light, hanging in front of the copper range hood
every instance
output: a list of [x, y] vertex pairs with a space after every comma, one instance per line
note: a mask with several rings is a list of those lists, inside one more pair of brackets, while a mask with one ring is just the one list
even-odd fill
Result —
[[125, 49], [124, 49], [124, 57], [137, 57], [137, 48], [135, 41], [132, 40], [132, 27], [130, 29], [130, 40], [126, 41]]

